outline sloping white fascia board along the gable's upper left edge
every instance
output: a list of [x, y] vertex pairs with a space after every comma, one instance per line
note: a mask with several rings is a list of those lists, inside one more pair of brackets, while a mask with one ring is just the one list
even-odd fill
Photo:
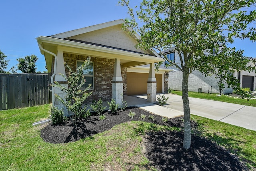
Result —
[[79, 35], [79, 34], [84, 34], [84, 33], [92, 32], [92, 31], [95, 31], [95, 30], [100, 30], [102, 28], [108, 28], [108, 27], [111, 27], [111, 26], [116, 26], [118, 24], [123, 24], [124, 22], [125, 21], [123, 19], [115, 20], [115, 21], [112, 21], [112, 22], [106, 22], [106, 23], [97, 24], [97, 25], [94, 25], [94, 26], [88, 26], [88, 27], [85, 27], [85, 28], [71, 30], [71, 31], [68, 31], [68, 32], [60, 33], [60, 34], [55, 34], [55, 35], [52, 35], [51, 37], [65, 39], [65, 38], [69, 38], [69, 37], [76, 36], [76, 35]]

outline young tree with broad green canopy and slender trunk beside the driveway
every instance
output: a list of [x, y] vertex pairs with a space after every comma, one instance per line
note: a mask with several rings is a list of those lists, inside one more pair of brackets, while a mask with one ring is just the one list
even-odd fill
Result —
[[[188, 76], [193, 70], [206, 76], [220, 70], [227, 74], [230, 68], [253, 70], [246, 66], [248, 60], [242, 56], [243, 51], [226, 46], [220, 50], [219, 44], [232, 44], [234, 38], [256, 40], [255, 28], [249, 28], [256, 21], [256, 12], [247, 11], [255, 6], [256, 0], [143, 0], [136, 13], [130, 8], [129, 0], [119, 3], [128, 7], [131, 16], [124, 28], [132, 28], [141, 36], [138, 48], [154, 48], [162, 53], [169, 66], [183, 73], [183, 147], [188, 149], [191, 145]], [[178, 52], [180, 64], [163, 54], [169, 48]], [[228, 80], [227, 83], [230, 84]]]

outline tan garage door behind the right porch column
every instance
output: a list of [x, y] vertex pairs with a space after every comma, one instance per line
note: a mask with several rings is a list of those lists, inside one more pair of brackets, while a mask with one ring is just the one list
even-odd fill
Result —
[[[147, 94], [148, 73], [127, 72], [127, 95]], [[156, 92], [162, 93], [162, 74], [156, 74]]]

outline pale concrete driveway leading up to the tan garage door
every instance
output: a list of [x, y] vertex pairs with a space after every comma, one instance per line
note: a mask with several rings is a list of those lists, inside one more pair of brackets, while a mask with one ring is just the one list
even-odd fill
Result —
[[[183, 112], [182, 96], [169, 97], [166, 107]], [[157, 95], [159, 96], [159, 95]], [[144, 96], [137, 96], [145, 98]], [[256, 107], [189, 97], [190, 113], [256, 131]]]

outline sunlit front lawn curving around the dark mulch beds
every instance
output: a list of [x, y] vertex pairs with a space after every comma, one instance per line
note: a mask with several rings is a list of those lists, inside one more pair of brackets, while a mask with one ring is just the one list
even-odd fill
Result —
[[[180, 130], [131, 121], [72, 143], [51, 144], [40, 137], [50, 105], [0, 111], [0, 170], [155, 170], [143, 156], [142, 135], [147, 130]], [[201, 136], [256, 167], [256, 131], [192, 115]]]

